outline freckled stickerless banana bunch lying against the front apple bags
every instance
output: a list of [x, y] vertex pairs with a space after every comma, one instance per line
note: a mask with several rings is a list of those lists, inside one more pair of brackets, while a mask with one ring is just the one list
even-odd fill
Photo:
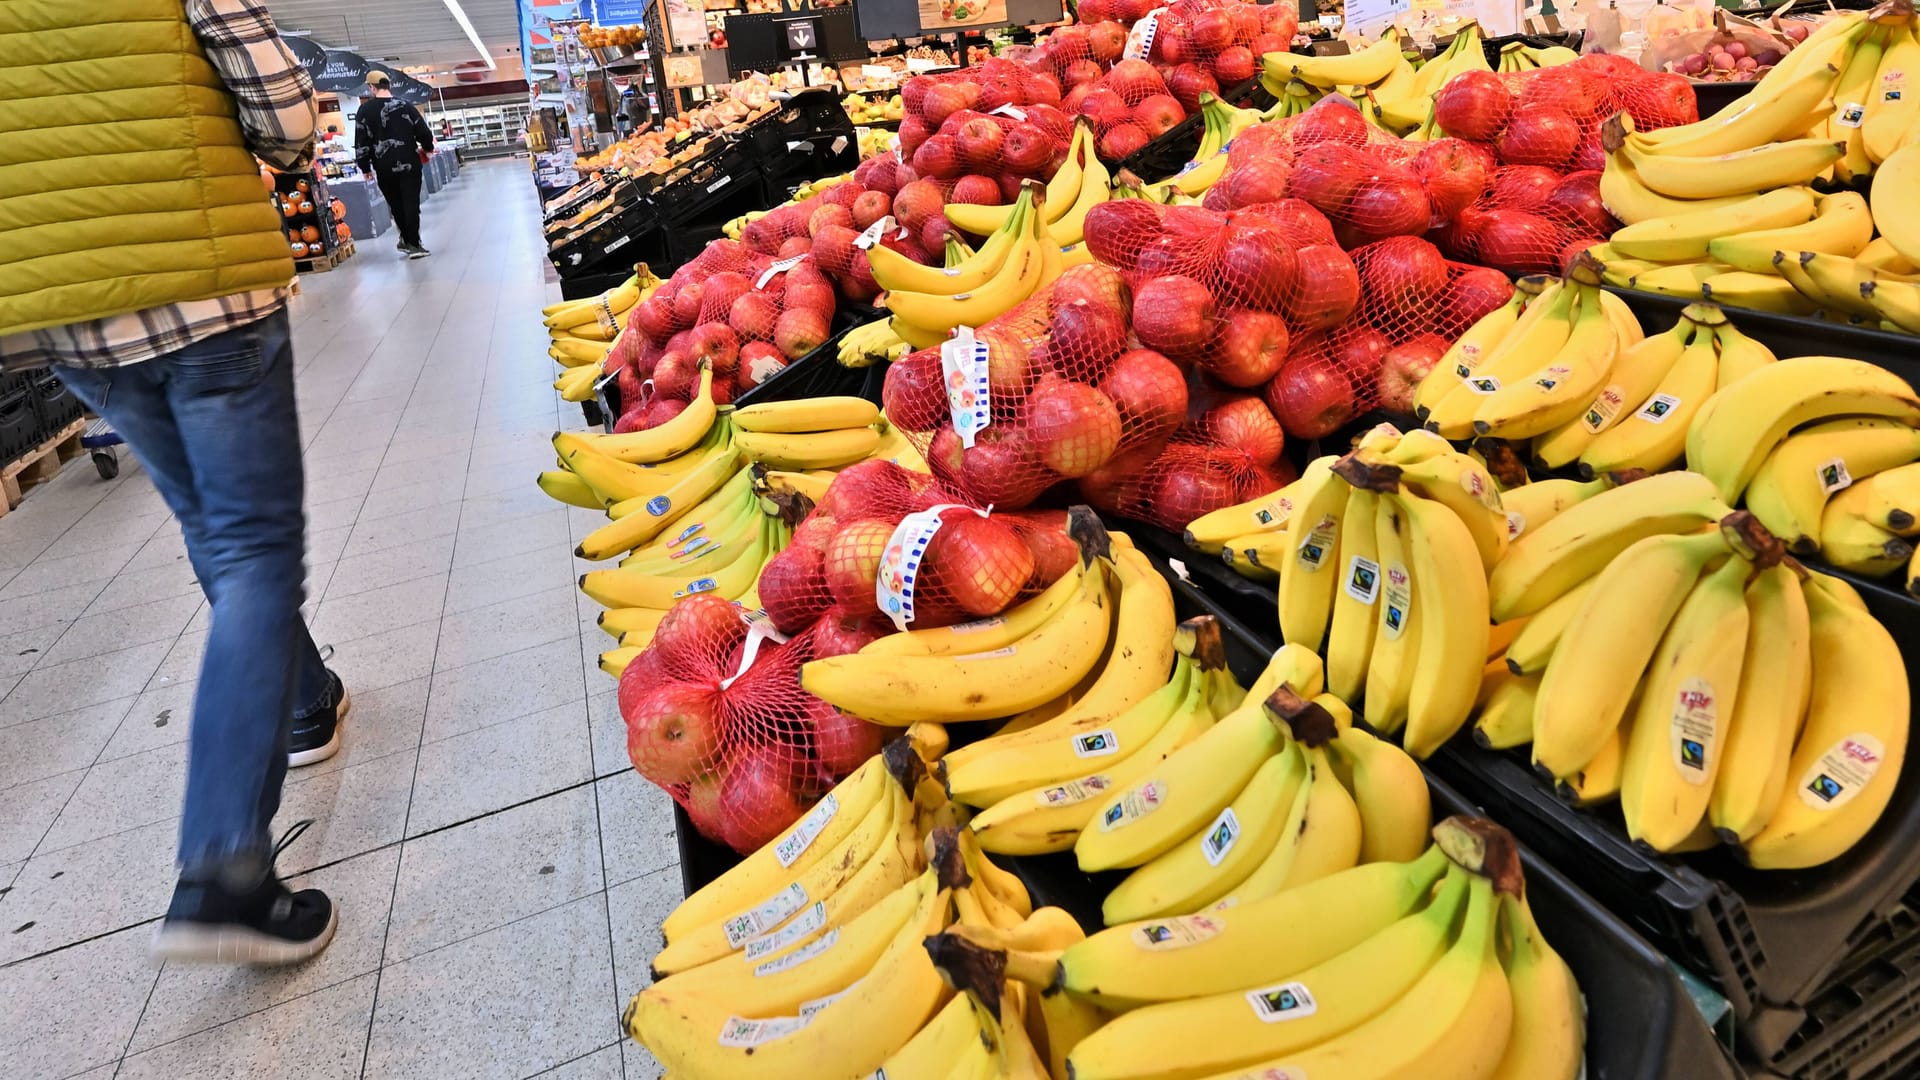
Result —
[[981, 623], [810, 661], [801, 688], [877, 724], [1020, 717], [1068, 700], [1079, 717], [1131, 709], [1173, 667], [1171, 588], [1087, 507], [1069, 511], [1068, 532], [1079, 567], [1041, 596]]

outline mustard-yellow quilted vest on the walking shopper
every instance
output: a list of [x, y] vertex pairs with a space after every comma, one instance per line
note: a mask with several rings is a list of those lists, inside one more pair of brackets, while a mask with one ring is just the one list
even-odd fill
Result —
[[182, 0], [6, 0], [0, 58], [0, 336], [292, 281]]

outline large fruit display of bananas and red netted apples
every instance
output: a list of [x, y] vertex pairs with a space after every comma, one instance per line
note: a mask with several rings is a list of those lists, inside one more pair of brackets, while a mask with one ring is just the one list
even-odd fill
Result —
[[626, 1032], [689, 1078], [1912, 1074], [1920, 396], [1837, 304], [1920, 275], [1860, 75], [1912, 10], [1705, 117], [1265, 12], [910, 79], [897, 152], [543, 313], [607, 430], [540, 486], [605, 515], [687, 884]]

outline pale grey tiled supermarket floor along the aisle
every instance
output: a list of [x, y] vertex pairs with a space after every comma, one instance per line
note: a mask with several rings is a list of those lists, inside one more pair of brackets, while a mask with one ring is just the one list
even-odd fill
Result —
[[207, 607], [127, 459], [0, 519], [0, 1074], [10, 1080], [659, 1076], [618, 1011], [680, 897], [626, 765], [609, 640], [574, 590], [589, 515], [534, 486], [559, 402], [524, 161], [426, 204], [294, 304], [307, 596], [353, 694], [296, 769], [280, 859], [340, 936], [278, 972], [159, 967]]

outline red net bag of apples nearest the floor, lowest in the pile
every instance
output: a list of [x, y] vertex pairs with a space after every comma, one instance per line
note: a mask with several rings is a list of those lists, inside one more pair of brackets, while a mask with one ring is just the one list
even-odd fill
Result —
[[753, 851], [879, 751], [887, 730], [801, 690], [801, 665], [887, 626], [826, 613], [780, 642], [712, 594], [682, 600], [620, 676], [634, 769], [708, 840]]

